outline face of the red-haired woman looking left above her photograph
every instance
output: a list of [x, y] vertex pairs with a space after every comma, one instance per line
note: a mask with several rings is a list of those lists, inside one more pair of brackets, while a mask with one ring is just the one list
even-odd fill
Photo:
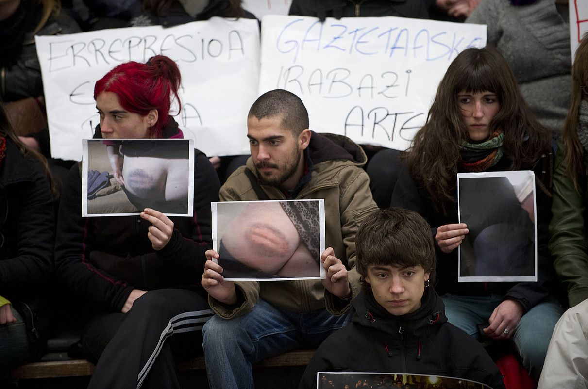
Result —
[[149, 138], [149, 128], [157, 121], [157, 110], [145, 116], [122, 108], [114, 92], [102, 92], [96, 97], [100, 115], [100, 131], [105, 139]]

